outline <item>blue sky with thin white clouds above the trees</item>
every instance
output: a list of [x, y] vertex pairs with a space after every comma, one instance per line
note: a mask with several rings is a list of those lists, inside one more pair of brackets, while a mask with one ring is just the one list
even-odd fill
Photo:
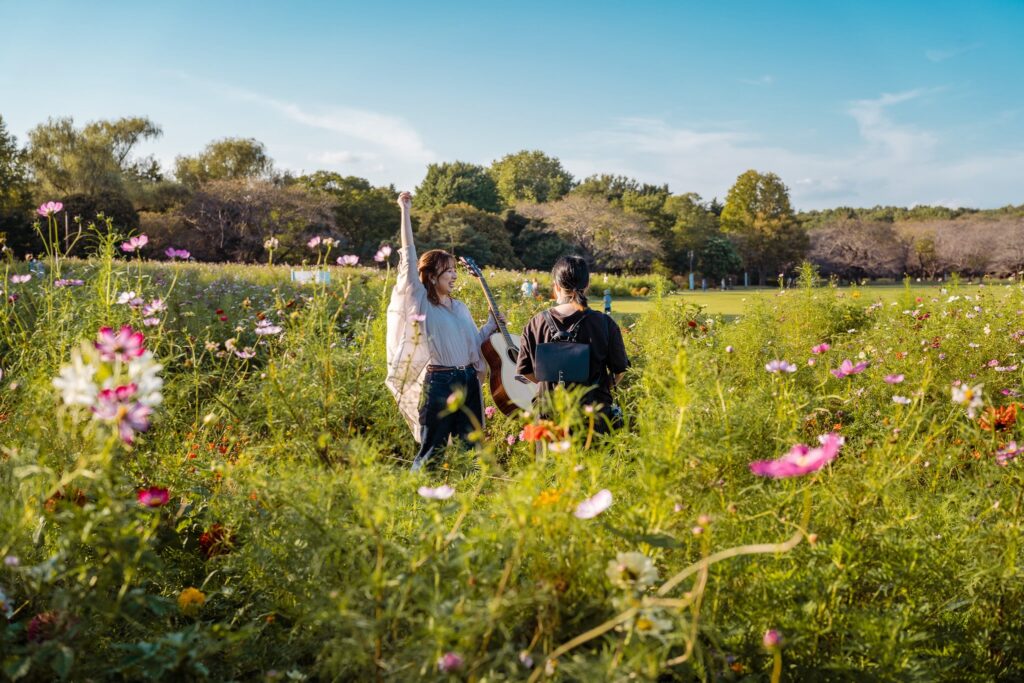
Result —
[[[772, 5], [775, 6], [772, 6]], [[801, 209], [1024, 203], [1024, 2], [0, 0], [0, 115], [145, 115], [399, 188], [518, 150]]]

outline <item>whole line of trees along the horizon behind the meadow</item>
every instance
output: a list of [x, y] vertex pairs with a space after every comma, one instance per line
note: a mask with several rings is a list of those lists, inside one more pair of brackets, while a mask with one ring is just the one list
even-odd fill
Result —
[[[137, 154], [162, 134], [144, 117], [36, 126], [24, 145], [0, 117], [0, 234], [16, 255], [40, 248], [34, 207], [60, 201], [69, 220], [102, 216], [144, 232], [162, 253], [205, 261], [309, 257], [313, 236], [369, 260], [394, 239], [393, 185], [331, 171], [280, 172], [257, 140], [225, 138], [173, 168]], [[994, 211], [942, 207], [838, 208], [798, 213], [782, 180], [740, 174], [724, 202], [612, 174], [577, 179], [554, 157], [522, 151], [489, 166], [430, 164], [415, 190], [419, 244], [496, 267], [548, 269], [561, 254], [611, 271], [696, 272], [713, 283], [773, 282], [809, 258], [850, 280], [1007, 274], [1024, 269], [1024, 205]], [[993, 250], [991, 245], [1000, 245]]]

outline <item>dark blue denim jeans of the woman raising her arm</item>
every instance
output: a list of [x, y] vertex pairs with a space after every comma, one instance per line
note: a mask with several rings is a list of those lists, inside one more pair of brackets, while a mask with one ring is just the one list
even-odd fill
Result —
[[[466, 401], [462, 409], [449, 413], [447, 397], [456, 389], [465, 392]], [[469, 443], [469, 434], [476, 426], [467, 412], [475, 417], [477, 424], [483, 424], [483, 401], [476, 370], [428, 372], [420, 398], [420, 452], [413, 461], [414, 472], [440, 462], [449, 436]]]

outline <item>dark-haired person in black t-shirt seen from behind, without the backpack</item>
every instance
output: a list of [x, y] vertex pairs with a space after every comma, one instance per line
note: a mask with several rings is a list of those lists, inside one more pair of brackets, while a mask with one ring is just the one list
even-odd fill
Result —
[[[590, 270], [584, 259], [579, 256], [563, 256], [558, 259], [551, 270], [551, 280], [556, 305], [550, 311], [538, 313], [526, 325], [519, 345], [517, 372], [530, 381], [538, 381], [537, 347], [556, 341], [556, 335], [560, 332], [575, 327], [575, 341], [590, 346], [590, 373], [586, 382], [579, 383], [590, 389], [584, 394], [582, 402], [584, 405], [593, 405], [598, 411], [595, 429], [607, 431], [610, 425], [620, 422], [611, 390], [630, 366], [623, 333], [610, 315], [587, 306]], [[551, 313], [551, 319], [546, 315], [547, 312]], [[551, 382], [541, 382], [537, 400], [544, 400], [554, 386]]]

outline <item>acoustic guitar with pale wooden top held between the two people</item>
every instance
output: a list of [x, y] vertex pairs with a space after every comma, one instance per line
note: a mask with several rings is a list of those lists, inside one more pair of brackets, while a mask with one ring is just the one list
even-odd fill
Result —
[[516, 361], [519, 358], [519, 345], [516, 343], [518, 336], [513, 338], [509, 334], [508, 326], [502, 322], [498, 313], [498, 302], [495, 301], [495, 295], [490, 293], [479, 266], [469, 257], [460, 257], [459, 260], [480, 282], [483, 296], [487, 299], [487, 307], [498, 321], [498, 332], [480, 345], [483, 359], [490, 369], [490, 397], [495, 399], [498, 410], [505, 415], [531, 410], [538, 386], [516, 373]]

